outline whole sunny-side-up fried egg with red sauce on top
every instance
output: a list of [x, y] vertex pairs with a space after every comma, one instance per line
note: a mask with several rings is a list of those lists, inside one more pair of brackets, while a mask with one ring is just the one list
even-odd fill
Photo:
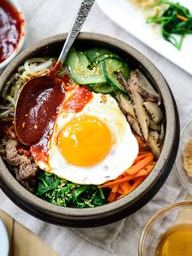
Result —
[[133, 165], [137, 139], [116, 99], [85, 86], [83, 94], [81, 90], [67, 91], [49, 138], [48, 157], [35, 161], [42, 170], [73, 183], [102, 184]]

